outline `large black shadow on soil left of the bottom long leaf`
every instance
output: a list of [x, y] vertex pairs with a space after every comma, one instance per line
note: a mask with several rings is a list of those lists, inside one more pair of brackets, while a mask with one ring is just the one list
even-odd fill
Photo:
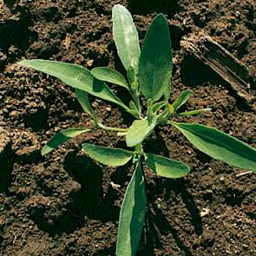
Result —
[[120, 209], [114, 206], [118, 194], [109, 184], [104, 184], [109, 189], [103, 193], [102, 167], [87, 156], [77, 153], [78, 151], [74, 151], [67, 154], [64, 168], [81, 185], [81, 189], [69, 194], [69, 202], [64, 206], [64, 210], [61, 210], [60, 214], [56, 213], [57, 217], [51, 218], [53, 220], [47, 217], [47, 213], [52, 209], [40, 206], [30, 210], [30, 218], [50, 236], [73, 233], [76, 228], [85, 226], [87, 219], [105, 222], [117, 221], [119, 218]]

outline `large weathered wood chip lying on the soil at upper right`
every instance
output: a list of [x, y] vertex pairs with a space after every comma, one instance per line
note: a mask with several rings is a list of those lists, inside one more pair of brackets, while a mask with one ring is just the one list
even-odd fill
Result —
[[240, 98], [249, 105], [253, 105], [255, 97], [250, 93], [251, 84], [249, 81], [252, 80], [252, 77], [249, 71], [220, 43], [214, 41], [211, 36], [199, 32], [184, 37], [181, 41], [181, 47], [220, 75]]

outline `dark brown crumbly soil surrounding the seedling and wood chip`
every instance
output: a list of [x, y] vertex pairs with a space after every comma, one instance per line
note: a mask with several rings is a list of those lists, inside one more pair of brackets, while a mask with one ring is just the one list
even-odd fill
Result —
[[[52, 135], [89, 125], [89, 115], [73, 89], [15, 64], [43, 58], [123, 72], [111, 34], [115, 3], [132, 12], [141, 39], [157, 13], [167, 16], [172, 99], [193, 89], [188, 109], [213, 108], [184, 121], [211, 125], [256, 148], [255, 111], [181, 49], [182, 36], [203, 30], [255, 76], [254, 0], [0, 2], [0, 255], [115, 255], [121, 200], [133, 168], [102, 167], [82, 154], [81, 143], [125, 148], [123, 137], [97, 131], [41, 156]], [[125, 92], [119, 96], [125, 99]], [[104, 124], [132, 122], [115, 105], [91, 100]], [[191, 173], [168, 180], [146, 169], [147, 225], [137, 255], [255, 255], [255, 175], [237, 176], [245, 170], [200, 153], [171, 127], [157, 128], [145, 146], [184, 161]]]

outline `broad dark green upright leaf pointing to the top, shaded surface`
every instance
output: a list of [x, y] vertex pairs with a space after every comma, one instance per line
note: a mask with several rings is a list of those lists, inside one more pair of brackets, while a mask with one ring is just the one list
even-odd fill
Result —
[[154, 102], [170, 91], [173, 62], [167, 19], [156, 16], [144, 39], [139, 62], [139, 82], [143, 95]]

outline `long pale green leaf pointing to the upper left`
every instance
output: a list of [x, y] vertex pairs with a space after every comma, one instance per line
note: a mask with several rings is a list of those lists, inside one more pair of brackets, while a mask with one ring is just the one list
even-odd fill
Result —
[[18, 62], [18, 64], [36, 69], [48, 75], [53, 75], [75, 89], [84, 90], [90, 95], [95, 95], [96, 97], [114, 102], [122, 108], [128, 109], [111, 89], [108, 88], [106, 83], [95, 79], [88, 69], [83, 69], [81, 66], [47, 60], [23, 60], [22, 62]]

